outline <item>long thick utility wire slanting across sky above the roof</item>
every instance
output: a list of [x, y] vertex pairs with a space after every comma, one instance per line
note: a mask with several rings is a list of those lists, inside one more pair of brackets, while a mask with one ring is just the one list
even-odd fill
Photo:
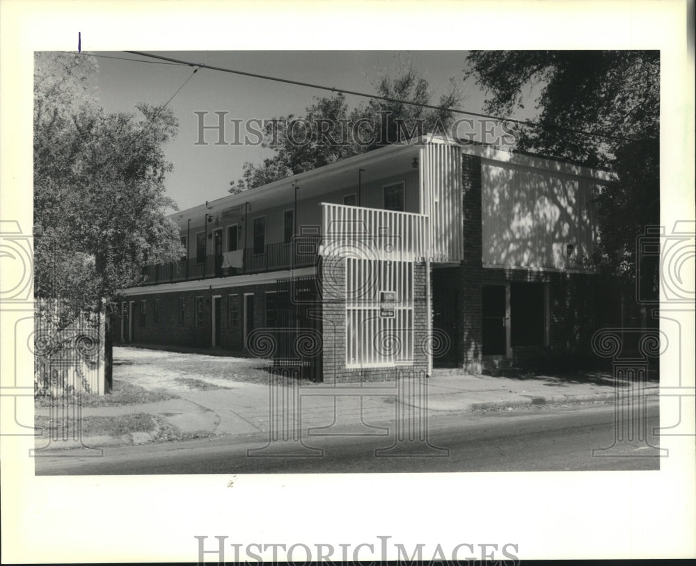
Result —
[[[177, 65], [189, 65], [191, 67], [196, 66], [196, 67], [201, 67], [203, 69], [209, 69], [212, 71], [220, 71], [220, 72], [226, 72], [226, 73], [232, 73], [232, 74], [241, 74], [244, 76], [253, 76], [256, 79], [264, 79], [266, 81], [276, 81], [276, 82], [287, 83], [287, 84], [292, 84], [292, 85], [296, 85], [296, 86], [306, 86], [309, 88], [317, 88], [319, 90], [329, 90], [330, 92], [340, 92], [343, 94], [353, 95], [353, 96], [358, 96], [358, 97], [363, 97], [363, 98], [384, 100], [386, 102], [395, 102], [397, 104], [409, 104], [411, 106], [420, 106], [420, 108], [431, 108], [433, 110], [448, 111], [448, 112], [457, 113], [457, 114], [466, 114], [466, 115], [470, 115], [470, 116], [476, 116], [477, 118], [491, 118], [491, 120], [498, 120], [500, 122], [503, 122], [503, 121], [514, 122], [515, 124], [523, 124], [525, 126], [531, 126], [531, 127], [535, 127], [535, 128], [551, 128], [551, 129], [557, 129], [557, 130], [562, 130], [562, 131], [569, 131], [569, 132], [573, 132], [574, 134], [581, 134], [583, 136], [592, 136], [592, 137], [596, 137], [596, 138], [606, 138], [606, 139], [611, 139], [611, 140], [621, 140], [621, 141], [627, 141], [627, 142], [640, 141], [637, 138], [626, 138], [624, 136], [610, 136], [609, 134], [597, 134], [596, 132], [592, 132], [592, 131], [585, 131], [585, 130], [574, 129], [574, 128], [569, 128], [569, 127], [564, 127], [564, 126], [557, 126], [555, 124], [539, 124], [537, 122], [532, 122], [531, 120], [516, 120], [514, 118], [500, 118], [500, 116], [493, 116], [490, 114], [470, 112], [470, 111], [466, 111], [466, 110], [459, 110], [457, 108], [447, 108], [445, 106], [435, 106], [434, 104], [422, 104], [420, 102], [410, 102], [408, 100], [400, 100], [397, 98], [384, 97], [384, 96], [380, 96], [380, 95], [370, 95], [370, 94], [367, 94], [365, 92], [357, 92], [355, 90], [345, 90], [343, 88], [335, 88], [333, 86], [318, 85], [315, 83], [305, 83], [302, 81], [293, 81], [292, 79], [280, 79], [277, 76], [269, 76], [269, 75], [251, 73], [251, 72], [246, 72], [246, 71], [237, 71], [234, 69], [228, 69], [226, 67], [216, 67], [214, 65], [205, 65], [205, 63], [191, 63], [191, 61], [184, 61], [181, 59], [174, 59], [171, 57], [164, 57], [161, 55], [144, 53], [143, 51], [126, 51], [126, 53], [131, 53], [131, 54], [139, 55], [139, 56], [143, 56], [143, 57], [151, 57], [151, 58], [155, 58], [155, 59], [161, 59], [164, 61], [168, 61], [169, 63], [175, 63]], [[143, 61], [143, 63], [144, 63], [144, 61]], [[648, 138], [648, 139], [655, 140], [656, 138]]]

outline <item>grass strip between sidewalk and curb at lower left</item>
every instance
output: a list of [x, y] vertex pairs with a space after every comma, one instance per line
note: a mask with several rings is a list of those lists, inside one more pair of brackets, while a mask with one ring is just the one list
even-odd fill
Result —
[[40, 435], [58, 435], [73, 438], [120, 436], [129, 432], [155, 432], [157, 421], [147, 413], [121, 414], [116, 417], [82, 417], [81, 419], [52, 419], [51, 417], [34, 417], [34, 426]]

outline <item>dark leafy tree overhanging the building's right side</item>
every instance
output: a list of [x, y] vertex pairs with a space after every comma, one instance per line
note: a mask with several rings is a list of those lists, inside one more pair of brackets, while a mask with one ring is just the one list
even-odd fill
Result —
[[[489, 93], [489, 113], [510, 115], [538, 92], [539, 126], [521, 127], [515, 149], [615, 174], [596, 199], [595, 261], [609, 273], [635, 275], [636, 238], [660, 218], [659, 52], [471, 51], [466, 61], [465, 78], [475, 76]], [[651, 278], [656, 284], [657, 274]]]

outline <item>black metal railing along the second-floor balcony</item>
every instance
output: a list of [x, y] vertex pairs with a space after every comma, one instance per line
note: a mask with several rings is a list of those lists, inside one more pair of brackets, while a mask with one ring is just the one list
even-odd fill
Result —
[[189, 257], [168, 264], [151, 264], [143, 268], [143, 285], [309, 267], [317, 263], [319, 243], [321, 236], [298, 236], [293, 238], [292, 243], [266, 244], [261, 253], [254, 253], [258, 251], [254, 248], [245, 248], [240, 267], [223, 267], [223, 254], [208, 254], [204, 258]]

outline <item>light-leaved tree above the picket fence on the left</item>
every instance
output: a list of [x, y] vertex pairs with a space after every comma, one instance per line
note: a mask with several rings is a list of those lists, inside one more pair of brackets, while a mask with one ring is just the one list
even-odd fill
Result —
[[147, 261], [182, 254], [164, 194], [172, 165], [163, 147], [177, 120], [145, 103], [141, 118], [106, 113], [92, 87], [96, 68], [85, 54], [35, 56], [34, 290], [61, 299], [59, 325], [142, 282]]

